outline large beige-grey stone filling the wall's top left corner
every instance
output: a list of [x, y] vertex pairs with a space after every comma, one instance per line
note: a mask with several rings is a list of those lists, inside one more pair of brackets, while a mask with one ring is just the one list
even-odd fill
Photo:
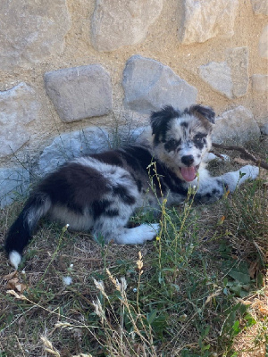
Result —
[[1, 1], [0, 67], [38, 62], [63, 52], [64, 36], [71, 29], [66, 0]]

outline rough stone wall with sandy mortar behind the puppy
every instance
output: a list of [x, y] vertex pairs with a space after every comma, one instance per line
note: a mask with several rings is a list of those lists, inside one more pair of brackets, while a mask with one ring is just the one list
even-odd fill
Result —
[[[212, 105], [214, 141], [267, 124], [266, 0], [2, 0], [0, 205], [73, 155]], [[115, 135], [114, 135], [115, 134]]]

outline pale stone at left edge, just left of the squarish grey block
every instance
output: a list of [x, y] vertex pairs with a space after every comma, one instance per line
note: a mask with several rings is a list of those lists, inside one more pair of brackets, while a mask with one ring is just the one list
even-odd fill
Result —
[[15, 153], [27, 143], [27, 127], [38, 118], [39, 109], [35, 90], [23, 82], [0, 92], [0, 157]]

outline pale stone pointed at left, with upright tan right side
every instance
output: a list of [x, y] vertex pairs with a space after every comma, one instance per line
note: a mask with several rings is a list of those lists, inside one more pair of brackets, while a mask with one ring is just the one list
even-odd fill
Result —
[[231, 48], [225, 62], [209, 62], [199, 67], [199, 75], [211, 87], [229, 99], [247, 94], [248, 49]]

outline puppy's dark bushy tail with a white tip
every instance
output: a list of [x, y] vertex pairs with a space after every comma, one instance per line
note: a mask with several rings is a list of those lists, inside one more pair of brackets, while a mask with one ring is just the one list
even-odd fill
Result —
[[34, 193], [29, 197], [17, 220], [9, 228], [4, 249], [15, 269], [18, 269], [23, 248], [28, 245], [38, 220], [46, 215], [50, 207], [51, 201], [48, 195], [40, 192]]

